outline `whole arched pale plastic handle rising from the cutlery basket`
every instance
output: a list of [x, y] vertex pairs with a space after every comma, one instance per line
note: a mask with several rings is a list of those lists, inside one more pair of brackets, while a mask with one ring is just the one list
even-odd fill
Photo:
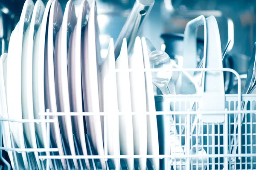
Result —
[[[200, 15], [186, 24], [184, 32], [184, 48], [183, 48], [183, 68], [196, 68], [198, 63], [196, 61], [196, 39], [198, 27], [204, 26], [204, 56], [203, 68], [223, 68], [221, 40], [218, 30], [218, 24], [213, 16], [207, 18]], [[193, 76], [194, 71], [188, 71]], [[222, 72], [203, 72], [201, 88], [203, 99], [201, 109], [204, 111], [223, 110], [224, 109], [224, 77]], [[215, 84], [213, 84], [214, 82]], [[208, 105], [209, 100], [212, 103]], [[204, 103], [205, 102], [205, 103]], [[224, 122], [224, 115], [201, 115], [200, 121], [203, 122]]]

